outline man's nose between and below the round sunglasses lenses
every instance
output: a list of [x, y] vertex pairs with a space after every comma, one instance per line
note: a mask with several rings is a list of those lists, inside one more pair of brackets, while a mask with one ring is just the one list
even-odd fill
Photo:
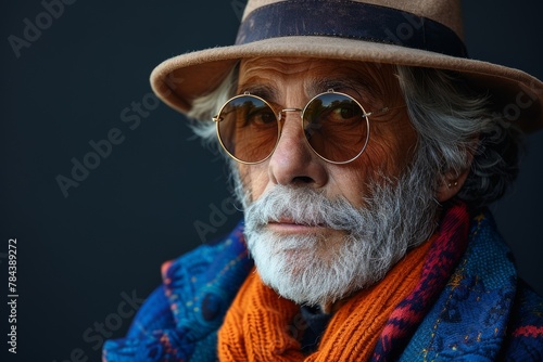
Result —
[[281, 185], [319, 189], [328, 180], [326, 165], [305, 142], [300, 117], [301, 112], [282, 113], [281, 134], [268, 164], [269, 179]]

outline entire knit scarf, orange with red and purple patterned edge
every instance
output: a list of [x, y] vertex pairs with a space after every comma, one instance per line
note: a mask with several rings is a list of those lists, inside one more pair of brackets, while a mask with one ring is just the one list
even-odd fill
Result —
[[[252, 273], [218, 332], [220, 361], [386, 360], [390, 342], [402, 345], [402, 338], [418, 324], [432, 296], [445, 284], [464, 250], [467, 220], [463, 205], [450, 209], [431, 240], [412, 249], [381, 282], [343, 303], [311, 355], [301, 352], [299, 337], [305, 325], [300, 307]], [[405, 326], [399, 329], [397, 321], [402, 319], [400, 325]]]

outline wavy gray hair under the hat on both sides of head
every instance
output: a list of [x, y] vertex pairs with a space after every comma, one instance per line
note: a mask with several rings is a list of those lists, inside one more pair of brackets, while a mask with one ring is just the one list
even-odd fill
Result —
[[[476, 208], [498, 199], [518, 173], [520, 131], [496, 117], [491, 95], [476, 92], [453, 72], [397, 66], [396, 74], [417, 146], [437, 172], [435, 190], [445, 173], [470, 167], [457, 197]], [[215, 91], [194, 100], [188, 114], [199, 119], [191, 128], [214, 152], [220, 144], [212, 117], [236, 94], [237, 77], [236, 67]]]

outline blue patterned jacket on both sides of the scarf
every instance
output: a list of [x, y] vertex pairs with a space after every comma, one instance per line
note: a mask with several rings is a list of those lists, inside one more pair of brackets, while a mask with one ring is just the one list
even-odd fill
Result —
[[[252, 269], [242, 225], [163, 266], [163, 285], [103, 360], [215, 361], [217, 329]], [[517, 276], [489, 214], [471, 222], [467, 250], [400, 361], [543, 361], [543, 299]]]

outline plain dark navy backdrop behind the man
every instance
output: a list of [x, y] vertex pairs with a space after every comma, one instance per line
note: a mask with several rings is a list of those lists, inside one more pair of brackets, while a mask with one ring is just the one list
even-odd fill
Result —
[[[65, 1], [50, 23], [40, 1], [1, 5], [2, 361], [99, 361], [103, 337], [123, 336], [160, 284], [161, 263], [241, 217], [218, 215], [225, 167], [182, 116], [151, 102], [148, 78], [169, 56], [231, 43], [245, 1]], [[543, 79], [540, 1], [464, 3], [472, 57]], [[27, 34], [17, 57], [9, 37], [37, 20], [41, 34]], [[108, 137], [117, 144], [65, 197], [55, 178], [72, 178], [72, 159]], [[543, 132], [528, 141], [519, 180], [493, 210], [521, 275], [542, 293]], [[194, 223], [216, 230], [202, 238]], [[16, 355], [7, 352], [5, 301], [14, 237]]]

